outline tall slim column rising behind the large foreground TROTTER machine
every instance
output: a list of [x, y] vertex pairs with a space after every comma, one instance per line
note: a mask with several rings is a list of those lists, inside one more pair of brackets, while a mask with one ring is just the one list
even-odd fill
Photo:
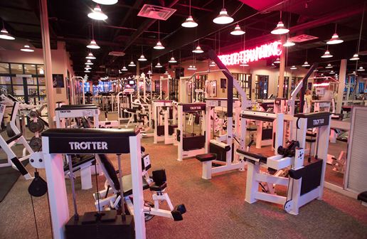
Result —
[[48, 27], [47, 0], [40, 0], [40, 18], [42, 33], [43, 63], [45, 64], [46, 95], [48, 124], [53, 128], [53, 117], [55, 116], [55, 99], [53, 97], [52, 61], [50, 48], [50, 28]]

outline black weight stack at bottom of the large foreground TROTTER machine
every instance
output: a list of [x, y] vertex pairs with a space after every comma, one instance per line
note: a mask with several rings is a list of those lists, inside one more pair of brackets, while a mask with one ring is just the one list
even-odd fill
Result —
[[[115, 210], [102, 211], [105, 216], [97, 220], [95, 214], [97, 212], [85, 213], [78, 221], [74, 216], [70, 218], [65, 225], [66, 239], [134, 239], [134, 217], [126, 215], [126, 220], [122, 221], [122, 217], [116, 214]], [[91, 220], [92, 219], [92, 220]]]

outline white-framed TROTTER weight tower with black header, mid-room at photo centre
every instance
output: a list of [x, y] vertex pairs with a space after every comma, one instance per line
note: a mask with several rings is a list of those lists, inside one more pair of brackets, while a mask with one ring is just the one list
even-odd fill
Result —
[[[200, 127], [199, 133], [194, 133], [194, 124], [191, 127], [191, 133], [186, 133], [186, 115], [195, 115], [195, 124], [201, 125], [204, 122], [201, 121], [205, 119], [206, 115], [206, 104], [205, 103], [191, 103], [191, 104], [179, 104], [178, 105], [178, 129], [177, 129], [177, 142], [178, 142], [178, 159], [182, 161], [183, 159], [191, 158], [197, 154], [204, 154], [206, 147], [206, 132], [205, 127]], [[193, 117], [193, 116], [192, 116]]]

